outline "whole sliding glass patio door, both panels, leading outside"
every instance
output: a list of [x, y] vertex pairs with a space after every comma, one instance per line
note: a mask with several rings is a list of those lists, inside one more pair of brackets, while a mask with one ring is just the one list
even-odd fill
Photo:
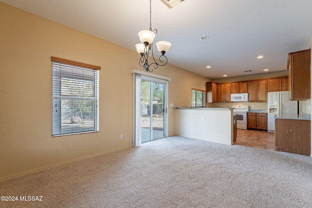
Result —
[[165, 137], [164, 83], [141, 80], [141, 143]]

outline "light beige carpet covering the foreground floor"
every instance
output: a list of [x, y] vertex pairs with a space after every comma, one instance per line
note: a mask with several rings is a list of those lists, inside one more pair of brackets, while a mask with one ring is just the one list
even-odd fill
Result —
[[169, 137], [0, 183], [12, 208], [311, 208], [312, 158]]

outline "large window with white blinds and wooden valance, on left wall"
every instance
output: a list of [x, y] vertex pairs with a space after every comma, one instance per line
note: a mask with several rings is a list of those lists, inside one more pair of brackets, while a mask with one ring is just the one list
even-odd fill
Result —
[[98, 66], [51, 57], [52, 136], [98, 132]]

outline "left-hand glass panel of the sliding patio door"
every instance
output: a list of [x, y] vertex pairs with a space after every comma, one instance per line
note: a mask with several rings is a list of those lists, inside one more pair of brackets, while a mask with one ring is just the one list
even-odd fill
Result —
[[151, 141], [151, 82], [141, 81], [141, 143]]

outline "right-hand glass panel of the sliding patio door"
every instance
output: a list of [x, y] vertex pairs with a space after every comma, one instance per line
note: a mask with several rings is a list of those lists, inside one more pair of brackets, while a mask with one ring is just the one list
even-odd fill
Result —
[[164, 137], [164, 98], [165, 98], [165, 85], [153, 82], [152, 89], [152, 136], [153, 139]]

